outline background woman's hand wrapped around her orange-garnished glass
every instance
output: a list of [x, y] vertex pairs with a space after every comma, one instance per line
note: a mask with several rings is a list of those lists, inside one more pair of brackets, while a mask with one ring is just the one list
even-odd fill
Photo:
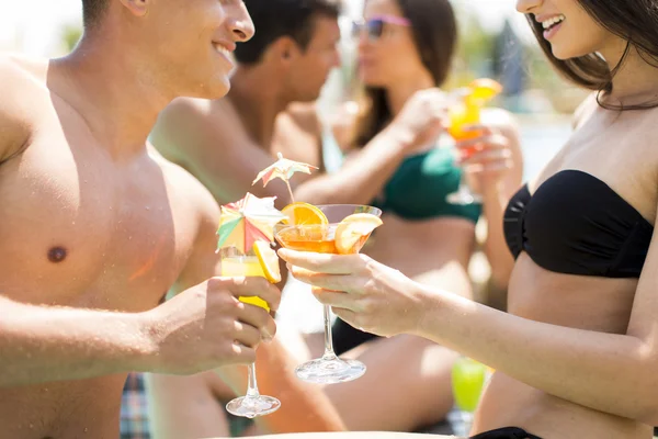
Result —
[[496, 188], [514, 166], [510, 138], [497, 127], [483, 124], [469, 125], [463, 131], [472, 133], [472, 136], [456, 143], [458, 165], [464, 168], [474, 188]]

